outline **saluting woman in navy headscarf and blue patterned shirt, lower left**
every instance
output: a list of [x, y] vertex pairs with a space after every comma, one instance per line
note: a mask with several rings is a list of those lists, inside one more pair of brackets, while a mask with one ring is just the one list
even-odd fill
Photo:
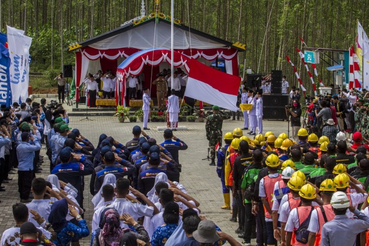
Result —
[[[67, 221], [68, 209], [69, 214], [77, 220], [78, 226]], [[56, 246], [70, 245], [72, 239], [84, 238], [90, 234], [86, 220], [81, 218], [77, 210], [70, 206], [65, 198], [52, 204], [48, 221], [57, 233], [57, 238], [52, 241]]]

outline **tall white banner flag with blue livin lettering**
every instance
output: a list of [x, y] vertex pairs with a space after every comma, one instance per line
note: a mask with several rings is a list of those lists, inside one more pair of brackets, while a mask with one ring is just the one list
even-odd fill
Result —
[[23, 30], [7, 26], [8, 48], [11, 60], [10, 64], [10, 87], [12, 101], [22, 102], [28, 97], [29, 85], [29, 48], [32, 38], [25, 36]]

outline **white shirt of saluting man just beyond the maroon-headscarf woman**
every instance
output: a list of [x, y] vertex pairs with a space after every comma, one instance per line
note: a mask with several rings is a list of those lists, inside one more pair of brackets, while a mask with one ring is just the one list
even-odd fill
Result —
[[[119, 214], [129, 213], [136, 221], [139, 217], [149, 216], [154, 213], [154, 208], [142, 205], [137, 202], [131, 202], [126, 198], [117, 198], [115, 201], [107, 206], [107, 208], [115, 208]], [[128, 228], [127, 224], [120, 222], [121, 228]]]

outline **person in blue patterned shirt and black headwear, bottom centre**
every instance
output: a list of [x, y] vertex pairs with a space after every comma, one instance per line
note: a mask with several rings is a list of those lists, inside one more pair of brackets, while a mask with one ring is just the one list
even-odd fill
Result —
[[179, 222], [179, 206], [174, 201], [167, 203], [163, 212], [164, 226], [155, 229], [151, 238], [151, 246], [163, 246], [168, 238], [178, 227]]

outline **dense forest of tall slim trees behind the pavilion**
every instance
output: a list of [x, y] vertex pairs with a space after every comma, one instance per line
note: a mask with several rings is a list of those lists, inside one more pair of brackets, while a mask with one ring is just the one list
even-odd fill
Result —
[[[145, 0], [146, 13], [154, 0]], [[355, 45], [357, 20], [369, 32], [367, 0], [175, 0], [175, 18], [191, 28], [245, 44], [239, 53], [240, 76], [246, 68], [268, 74], [282, 70], [291, 85], [298, 85], [289, 55], [303, 84], [312, 90], [295, 47], [301, 36], [309, 47], [345, 49]], [[55, 87], [53, 78], [63, 64], [75, 64], [66, 47], [119, 27], [140, 15], [141, 0], [0, 0], [0, 30], [6, 25], [32, 37], [31, 85], [39, 92]], [[170, 0], [160, 9], [170, 15]], [[333, 83], [327, 64], [317, 66], [325, 85]], [[311, 72], [313, 72], [311, 68]], [[316, 83], [317, 83], [316, 79]]]

